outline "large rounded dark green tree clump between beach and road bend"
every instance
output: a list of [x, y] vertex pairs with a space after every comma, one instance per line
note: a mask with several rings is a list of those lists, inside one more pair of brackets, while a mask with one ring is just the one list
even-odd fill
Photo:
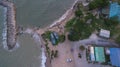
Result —
[[68, 39], [70, 41], [88, 38], [93, 32], [93, 29], [90, 28], [90, 25], [85, 23], [83, 20], [73, 18], [69, 22], [65, 27], [69, 31]]

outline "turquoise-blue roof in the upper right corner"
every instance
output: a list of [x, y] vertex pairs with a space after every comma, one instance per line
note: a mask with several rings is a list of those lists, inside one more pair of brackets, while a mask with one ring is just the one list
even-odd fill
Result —
[[120, 19], [120, 5], [117, 2], [111, 3], [109, 17], [117, 16]]

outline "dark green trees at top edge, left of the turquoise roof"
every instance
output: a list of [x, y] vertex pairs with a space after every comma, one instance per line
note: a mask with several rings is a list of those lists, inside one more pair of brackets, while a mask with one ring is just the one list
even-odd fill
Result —
[[109, 0], [93, 0], [89, 3], [89, 9], [103, 8], [109, 5]]

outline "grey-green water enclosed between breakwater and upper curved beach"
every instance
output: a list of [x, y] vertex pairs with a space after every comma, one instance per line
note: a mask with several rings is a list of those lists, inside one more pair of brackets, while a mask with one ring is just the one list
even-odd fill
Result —
[[16, 4], [17, 24], [24, 27], [50, 25], [72, 6], [75, 0], [10, 0]]

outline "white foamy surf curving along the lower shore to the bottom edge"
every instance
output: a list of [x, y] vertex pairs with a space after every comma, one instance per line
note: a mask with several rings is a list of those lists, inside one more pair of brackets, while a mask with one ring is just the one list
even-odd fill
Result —
[[42, 41], [42, 38], [41, 38], [41, 35], [39, 35], [34, 29], [31, 29], [31, 28], [27, 28], [25, 31], [24, 31], [24, 34], [29, 34], [29, 35], [32, 35], [32, 38], [34, 39], [34, 41], [36, 42], [36, 44], [41, 47], [41, 56], [40, 56], [40, 60], [41, 61], [41, 66], [40, 67], [46, 67], [46, 61], [48, 59], [47, 55], [46, 55], [46, 51], [45, 51], [45, 47], [43, 45], [43, 41]]

